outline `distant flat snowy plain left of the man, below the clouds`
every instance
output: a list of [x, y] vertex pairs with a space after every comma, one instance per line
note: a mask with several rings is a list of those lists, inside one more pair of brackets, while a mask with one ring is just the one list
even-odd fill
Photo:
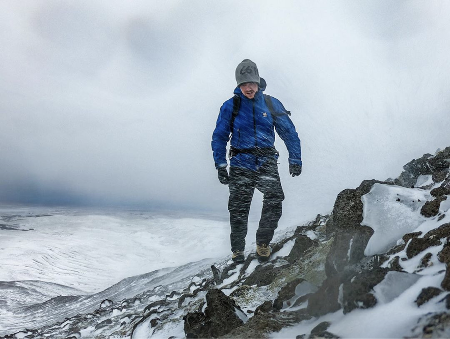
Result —
[[86, 293], [123, 278], [229, 254], [227, 220], [139, 211], [0, 208], [0, 281]]

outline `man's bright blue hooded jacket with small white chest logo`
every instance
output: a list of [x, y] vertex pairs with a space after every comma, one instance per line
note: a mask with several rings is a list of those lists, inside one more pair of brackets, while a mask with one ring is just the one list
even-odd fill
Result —
[[[272, 99], [276, 117], [272, 117], [266, 105], [262, 91], [266, 86], [259, 88], [253, 99], [248, 99], [236, 87], [234, 94], [239, 95], [241, 104], [239, 112], [234, 120], [233, 131], [230, 131], [230, 120], [233, 112], [233, 98], [224, 102], [220, 108], [216, 129], [213, 133], [213, 157], [216, 168], [226, 167], [226, 146], [230, 132], [232, 132], [231, 146], [236, 149], [248, 149], [253, 147], [273, 147], [276, 129], [278, 135], [283, 139], [289, 152], [289, 164], [302, 164], [302, 152], [300, 139], [282, 103], [275, 98]], [[278, 158], [278, 155], [275, 155]], [[247, 168], [257, 171], [266, 162], [268, 157], [255, 156], [248, 153], [239, 153], [230, 160], [230, 166]]]

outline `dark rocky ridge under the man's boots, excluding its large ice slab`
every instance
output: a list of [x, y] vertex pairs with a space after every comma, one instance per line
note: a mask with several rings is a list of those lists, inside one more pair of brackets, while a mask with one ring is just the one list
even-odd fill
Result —
[[[394, 180], [365, 180], [355, 189], [343, 190], [330, 215], [317, 215], [272, 244], [267, 264], [259, 265], [254, 253], [247, 253], [240, 265], [227, 258], [133, 298], [103, 300], [91, 313], [0, 339], [269, 338], [289, 326], [314, 321], [318, 323], [307, 332], [299, 331], [297, 338], [337, 339], [333, 322], [320, 321], [321, 317], [389, 302], [426, 274], [437, 277], [439, 286], [423, 287], [414, 302], [419, 309], [431, 305], [433, 311], [405, 328], [404, 337], [447, 338], [450, 222], [445, 214], [450, 211], [444, 202], [450, 195], [449, 160], [447, 147], [412, 160]], [[361, 225], [361, 198], [374, 185], [427, 193], [429, 200], [414, 206], [420, 206], [417, 213], [428, 228], [404, 234], [385, 252], [365, 255], [374, 230]], [[409, 204], [400, 197], [395, 203]], [[402, 281], [401, 289], [396, 291], [389, 281]]]

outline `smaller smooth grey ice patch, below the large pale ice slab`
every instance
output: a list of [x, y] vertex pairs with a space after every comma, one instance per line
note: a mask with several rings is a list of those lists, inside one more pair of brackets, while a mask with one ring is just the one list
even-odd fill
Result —
[[383, 281], [374, 287], [375, 297], [381, 304], [391, 302], [413, 286], [419, 278], [420, 275], [414, 273], [390, 271]]

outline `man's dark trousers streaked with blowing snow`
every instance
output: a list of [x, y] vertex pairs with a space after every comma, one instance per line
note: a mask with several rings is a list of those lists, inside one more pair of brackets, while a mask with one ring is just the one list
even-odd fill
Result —
[[257, 172], [245, 168], [230, 167], [229, 177], [231, 250], [244, 250], [247, 235], [248, 214], [255, 188], [264, 194], [256, 242], [269, 245], [281, 218], [281, 202], [284, 200], [278, 166], [270, 159]]

